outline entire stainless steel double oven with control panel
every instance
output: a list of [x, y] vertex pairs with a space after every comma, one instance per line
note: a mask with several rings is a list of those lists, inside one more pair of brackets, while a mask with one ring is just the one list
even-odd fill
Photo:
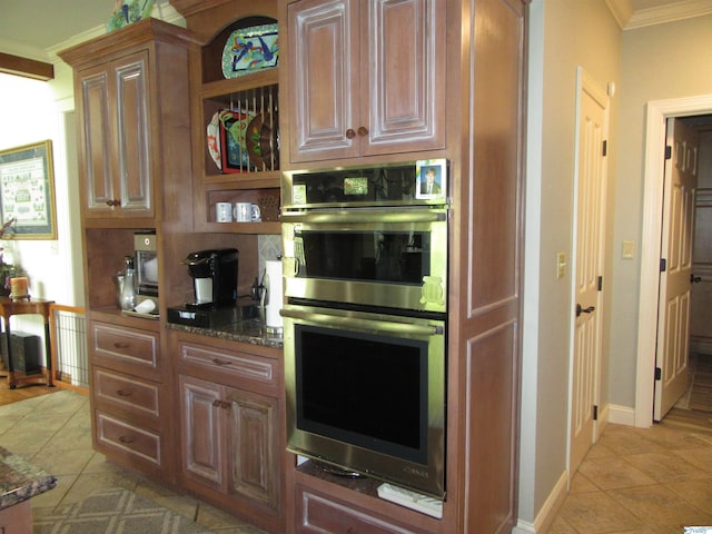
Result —
[[283, 181], [289, 447], [441, 498], [446, 178], [425, 160]]

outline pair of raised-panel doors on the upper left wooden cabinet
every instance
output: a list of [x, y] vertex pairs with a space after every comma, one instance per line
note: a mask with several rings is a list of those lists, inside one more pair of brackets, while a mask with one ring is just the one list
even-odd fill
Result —
[[151, 217], [148, 52], [81, 71], [87, 217]]

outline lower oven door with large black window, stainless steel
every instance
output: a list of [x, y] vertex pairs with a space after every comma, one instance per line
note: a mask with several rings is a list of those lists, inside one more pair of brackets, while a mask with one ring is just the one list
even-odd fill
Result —
[[443, 497], [444, 320], [285, 306], [290, 451]]

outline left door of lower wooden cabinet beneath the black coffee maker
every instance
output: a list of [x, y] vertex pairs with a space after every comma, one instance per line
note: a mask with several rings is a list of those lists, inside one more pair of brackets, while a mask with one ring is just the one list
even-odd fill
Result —
[[180, 375], [182, 471], [185, 476], [225, 491], [220, 423], [224, 387]]

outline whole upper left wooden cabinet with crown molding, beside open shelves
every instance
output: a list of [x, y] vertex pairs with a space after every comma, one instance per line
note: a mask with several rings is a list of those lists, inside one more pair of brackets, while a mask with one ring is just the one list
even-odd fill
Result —
[[[174, 180], [189, 139], [190, 34], [156, 19], [137, 22], [59, 56], [75, 69], [83, 217], [160, 217], [158, 191]], [[171, 159], [176, 158], [176, 161]]]

